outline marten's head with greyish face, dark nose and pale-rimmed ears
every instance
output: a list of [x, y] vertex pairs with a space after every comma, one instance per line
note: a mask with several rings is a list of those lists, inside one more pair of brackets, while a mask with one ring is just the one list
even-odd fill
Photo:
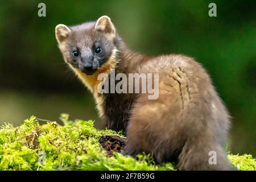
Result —
[[58, 24], [55, 35], [64, 60], [75, 71], [93, 75], [113, 66], [117, 51], [114, 45], [116, 33], [108, 16], [77, 26]]

